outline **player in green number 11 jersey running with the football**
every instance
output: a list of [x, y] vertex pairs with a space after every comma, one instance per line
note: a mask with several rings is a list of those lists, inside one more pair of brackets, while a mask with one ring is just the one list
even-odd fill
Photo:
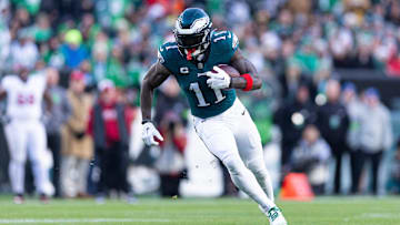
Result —
[[[142, 139], [158, 145], [162, 136], [151, 121], [153, 90], [173, 74], [188, 98], [194, 129], [207, 149], [228, 168], [233, 183], [268, 216], [272, 225], [286, 225], [273, 201], [273, 190], [264, 166], [261, 139], [249, 112], [234, 89], [261, 88], [256, 68], [239, 50], [230, 31], [211, 30], [212, 22], [201, 9], [186, 9], [174, 25], [176, 42], [162, 44], [146, 74], [141, 90]], [[240, 72], [231, 78], [219, 64]]]

